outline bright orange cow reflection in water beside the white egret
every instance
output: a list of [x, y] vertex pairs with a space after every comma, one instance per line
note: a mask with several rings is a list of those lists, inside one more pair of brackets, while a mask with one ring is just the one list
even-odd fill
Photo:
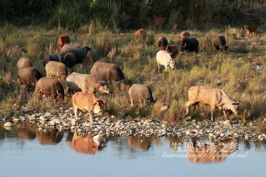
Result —
[[[71, 139], [72, 137], [72, 139]], [[66, 144], [79, 153], [95, 154], [96, 150], [102, 150], [105, 148], [102, 143], [108, 142], [107, 138], [101, 138], [100, 140], [93, 140], [92, 135], [78, 136], [77, 133], [68, 133], [66, 138]]]

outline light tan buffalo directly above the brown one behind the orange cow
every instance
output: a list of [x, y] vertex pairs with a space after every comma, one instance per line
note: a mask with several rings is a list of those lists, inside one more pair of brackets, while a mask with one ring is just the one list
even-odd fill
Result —
[[59, 79], [62, 77], [63, 79], [66, 79], [68, 76], [68, 69], [63, 63], [57, 62], [57, 61], [49, 61], [47, 65], [45, 66], [46, 71], [46, 77], [52, 78], [52, 76], [57, 76]]

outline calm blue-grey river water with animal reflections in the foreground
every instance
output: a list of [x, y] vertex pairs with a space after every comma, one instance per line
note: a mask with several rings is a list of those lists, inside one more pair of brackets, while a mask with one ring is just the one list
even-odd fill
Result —
[[[0, 123], [0, 176], [266, 176], [266, 142], [37, 131]], [[143, 140], [141, 142], [140, 140]]]

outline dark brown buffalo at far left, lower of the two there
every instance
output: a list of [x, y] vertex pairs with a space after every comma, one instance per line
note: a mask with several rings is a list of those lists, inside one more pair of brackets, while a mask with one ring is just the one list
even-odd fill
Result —
[[41, 78], [40, 77], [40, 71], [38, 73], [38, 69], [36, 68], [20, 68], [18, 71], [18, 77], [20, 79], [20, 82], [22, 84], [28, 85], [29, 88], [35, 87], [37, 81]]

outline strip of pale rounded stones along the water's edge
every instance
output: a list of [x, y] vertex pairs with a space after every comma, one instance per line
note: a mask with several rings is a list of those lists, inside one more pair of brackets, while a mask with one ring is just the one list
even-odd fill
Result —
[[36, 111], [30, 114], [27, 109], [24, 109], [23, 113], [24, 115], [10, 118], [0, 115], [0, 122], [17, 124], [18, 121], [31, 121], [37, 124], [38, 131], [69, 130], [80, 135], [88, 133], [96, 135], [100, 132], [101, 136], [126, 134], [127, 136], [193, 136], [209, 139], [246, 138], [251, 139], [251, 141], [266, 140], [265, 134], [259, 134], [254, 131], [256, 127], [253, 123], [243, 127], [241, 121], [211, 122], [204, 120], [197, 122], [194, 119], [189, 120], [187, 118], [181, 124], [170, 125], [168, 122], [161, 120], [127, 121], [119, 116], [101, 118], [94, 115], [94, 122], [90, 123], [88, 114], [85, 114], [83, 119], [75, 119], [73, 107], [69, 109], [60, 108], [55, 114], [49, 112], [37, 113]]

